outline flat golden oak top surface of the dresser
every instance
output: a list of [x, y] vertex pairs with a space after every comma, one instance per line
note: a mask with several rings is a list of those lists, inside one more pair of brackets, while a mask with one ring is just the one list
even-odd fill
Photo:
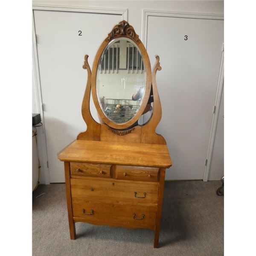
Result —
[[58, 154], [61, 161], [169, 168], [167, 145], [75, 140]]

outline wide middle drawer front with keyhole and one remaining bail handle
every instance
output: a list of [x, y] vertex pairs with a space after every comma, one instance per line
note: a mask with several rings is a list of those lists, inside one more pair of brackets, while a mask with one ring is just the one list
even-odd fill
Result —
[[70, 179], [72, 200], [157, 204], [158, 183]]

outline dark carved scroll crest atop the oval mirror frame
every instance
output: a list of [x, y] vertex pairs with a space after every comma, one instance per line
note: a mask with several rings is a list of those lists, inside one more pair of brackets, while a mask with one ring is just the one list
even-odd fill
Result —
[[108, 40], [110, 41], [119, 35], [128, 35], [136, 42], [140, 40], [139, 36], [135, 33], [133, 26], [130, 26], [130, 24], [125, 20], [119, 22], [118, 25], [113, 27], [112, 31], [108, 34]]

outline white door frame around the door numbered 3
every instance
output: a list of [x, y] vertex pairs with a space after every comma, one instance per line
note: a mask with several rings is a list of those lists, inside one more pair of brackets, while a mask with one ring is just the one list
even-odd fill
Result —
[[[157, 16], [157, 17], [175, 17], [175, 18], [189, 18], [189, 19], [205, 19], [205, 20], [224, 20], [223, 14], [211, 14], [211, 13], [192, 13], [192, 12], [168, 12], [168, 11], [160, 11], [160, 10], [151, 10], [151, 9], [143, 9], [142, 10], [142, 42], [147, 49], [147, 38], [148, 38], [148, 17], [149, 16]], [[220, 71], [218, 77], [217, 90], [215, 95], [215, 102], [212, 106], [212, 125], [209, 133], [209, 142], [206, 152], [205, 159], [205, 167], [204, 167], [204, 175], [202, 179], [204, 181], [208, 180], [209, 169], [211, 165], [212, 159], [212, 149], [215, 140], [216, 126], [219, 108], [221, 104], [221, 91], [224, 83], [224, 43], [222, 45], [221, 55], [221, 63], [220, 63]]]

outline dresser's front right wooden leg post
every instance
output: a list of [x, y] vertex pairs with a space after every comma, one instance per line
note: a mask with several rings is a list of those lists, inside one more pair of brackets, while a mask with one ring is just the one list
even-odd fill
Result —
[[157, 199], [157, 214], [155, 221], [155, 235], [154, 235], [154, 248], [158, 248], [159, 244], [159, 233], [161, 225], [161, 214], [162, 214], [162, 204], [163, 204], [163, 187], [164, 187], [164, 177], [165, 177], [165, 168], [160, 169], [160, 180], [158, 188], [158, 199]]

